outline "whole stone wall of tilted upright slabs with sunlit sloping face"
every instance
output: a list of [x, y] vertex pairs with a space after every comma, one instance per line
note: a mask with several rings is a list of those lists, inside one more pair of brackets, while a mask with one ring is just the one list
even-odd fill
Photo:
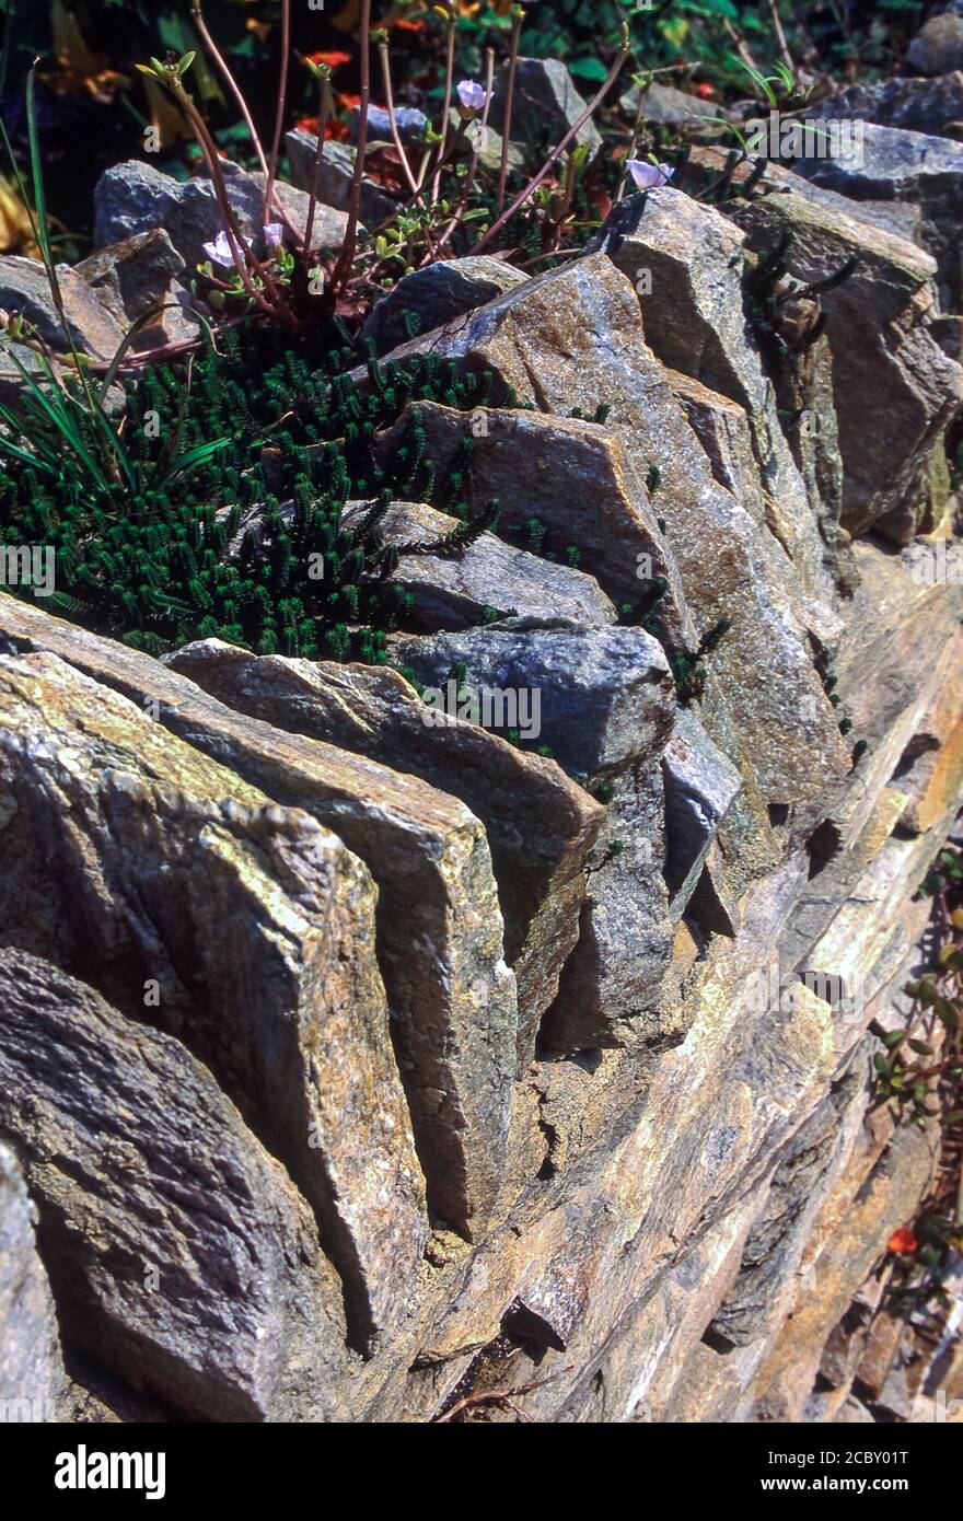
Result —
[[537, 692], [548, 753], [394, 669], [155, 662], [0, 596], [5, 1398], [872, 1418], [864, 1285], [937, 1151], [870, 1024], [960, 808], [963, 371], [937, 260], [793, 178], [631, 198], [394, 353], [529, 403], [405, 423], [578, 566], [402, 552], [393, 660]]

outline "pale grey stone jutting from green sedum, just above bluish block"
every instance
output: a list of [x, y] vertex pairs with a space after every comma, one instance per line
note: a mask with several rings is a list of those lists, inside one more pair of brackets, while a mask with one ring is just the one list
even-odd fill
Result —
[[[348, 502], [341, 522], [358, 528], [370, 502]], [[379, 522], [386, 543], [437, 545], [458, 529], [456, 517], [420, 502], [393, 502]], [[412, 618], [424, 628], [469, 628], [493, 613], [551, 622], [570, 618], [587, 628], [615, 624], [616, 610], [592, 576], [552, 564], [525, 549], [481, 534], [462, 551], [405, 554], [386, 576], [414, 598]], [[511, 590], [511, 607], [502, 605]]]

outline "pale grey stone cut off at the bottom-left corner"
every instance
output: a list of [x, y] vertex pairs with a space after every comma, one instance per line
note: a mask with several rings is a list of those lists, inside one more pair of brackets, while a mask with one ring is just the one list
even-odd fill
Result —
[[[0, 1132], [6, 1130], [6, 1101], [3, 1094]], [[65, 1375], [50, 1284], [37, 1255], [37, 1218], [20, 1164], [0, 1145], [0, 1421], [5, 1424], [64, 1419], [58, 1401]]]

